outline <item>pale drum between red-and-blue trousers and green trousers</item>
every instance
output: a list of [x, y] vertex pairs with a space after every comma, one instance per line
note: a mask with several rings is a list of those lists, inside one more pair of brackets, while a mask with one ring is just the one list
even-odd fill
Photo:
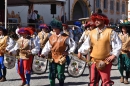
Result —
[[43, 74], [47, 70], [48, 60], [46, 58], [41, 58], [38, 55], [34, 56], [32, 70], [36, 74]]

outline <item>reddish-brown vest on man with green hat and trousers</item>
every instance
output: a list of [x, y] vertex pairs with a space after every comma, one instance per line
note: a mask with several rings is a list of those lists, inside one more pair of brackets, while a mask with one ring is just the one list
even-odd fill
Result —
[[58, 63], [59, 59], [62, 57], [63, 52], [65, 51], [67, 45], [65, 43], [68, 36], [63, 33], [61, 36], [57, 36], [55, 34], [51, 35], [49, 38], [49, 42], [52, 46], [51, 53], [52, 58], [55, 63]]

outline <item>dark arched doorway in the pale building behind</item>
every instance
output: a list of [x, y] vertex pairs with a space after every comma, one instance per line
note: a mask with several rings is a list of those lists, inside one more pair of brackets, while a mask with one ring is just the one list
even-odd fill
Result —
[[[79, 18], [79, 17], [88, 17], [91, 15], [91, 12], [90, 12], [90, 8], [88, 7], [89, 3], [86, 2], [86, 0], [74, 0], [73, 4], [72, 4], [72, 9], [71, 9], [71, 19], [74, 19], [74, 18]], [[79, 15], [76, 17], [75, 16], [75, 13], [76, 13], [76, 8], [79, 6], [78, 9], [79, 12]], [[78, 12], [77, 12], [78, 13]]]

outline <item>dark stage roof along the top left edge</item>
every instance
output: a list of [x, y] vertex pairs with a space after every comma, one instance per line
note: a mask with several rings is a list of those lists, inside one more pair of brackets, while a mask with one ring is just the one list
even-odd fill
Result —
[[60, 4], [66, 0], [7, 0], [8, 6], [20, 6], [28, 5], [29, 3], [33, 4]]

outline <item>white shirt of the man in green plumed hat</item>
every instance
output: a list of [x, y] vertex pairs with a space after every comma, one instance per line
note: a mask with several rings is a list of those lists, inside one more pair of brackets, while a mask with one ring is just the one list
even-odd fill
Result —
[[[58, 37], [61, 36], [62, 33], [63, 33], [63, 32], [61, 32], [61, 33], [60, 33], [59, 35], [57, 35], [57, 36], [58, 36]], [[74, 41], [72, 38], [68, 37], [67, 40], [65, 41], [65, 43], [69, 46], [69, 51], [68, 51], [68, 53], [72, 53], [72, 52], [75, 51], [77, 45], [76, 45], [75, 41]], [[48, 53], [51, 51], [51, 48], [52, 48], [52, 46], [51, 46], [50, 42], [48, 41], [48, 42], [46, 43], [45, 47], [43, 48], [41, 54], [47, 56]], [[66, 47], [66, 48], [67, 48], [67, 47]]]

